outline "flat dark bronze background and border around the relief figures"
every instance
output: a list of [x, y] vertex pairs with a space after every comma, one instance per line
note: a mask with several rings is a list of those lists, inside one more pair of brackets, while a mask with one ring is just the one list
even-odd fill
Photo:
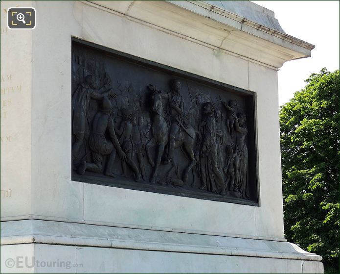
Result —
[[[76, 57], [77, 55], [77, 57]], [[199, 58], [199, 56], [197, 56]], [[84, 69], [85, 68], [85, 69]], [[193, 75], [169, 66], [165, 66], [156, 62], [145, 60], [127, 53], [108, 49], [90, 42], [86, 42], [77, 38], [72, 38], [72, 93], [76, 90], [79, 83], [84, 81], [86, 75], [92, 74], [95, 79], [96, 86], [100, 87], [104, 83], [104, 73], [107, 73], [112, 80], [112, 88], [119, 95], [120, 90], [129, 90], [127, 92], [130, 104], [136, 93], [144, 97], [144, 103], [148, 105], [150, 102], [150, 91], [147, 89], [148, 84], [155, 85], [163, 93], [169, 92], [169, 81], [173, 78], [178, 78], [181, 81], [181, 95], [184, 99], [184, 112], [190, 108], [190, 94], [194, 97], [195, 90], [200, 90], [204, 95], [213, 101], [215, 106], [218, 106], [223, 113], [225, 109], [222, 107], [220, 100], [236, 100], [237, 113], [244, 112], [247, 116], [248, 134], [246, 143], [248, 146], [248, 184], [250, 199], [238, 199], [234, 197], [222, 196], [209, 193], [198, 189], [201, 184], [200, 179], [195, 182], [195, 187], [190, 185], [193, 180], [192, 172], [189, 173], [188, 186], [175, 187], [173, 185], [151, 184], [148, 181], [135, 182], [132, 172], [131, 177], [116, 178], [105, 176], [104, 174], [96, 174], [86, 172], [84, 175], [79, 175], [72, 170], [72, 180], [113, 187], [128, 188], [140, 191], [150, 191], [155, 193], [163, 193], [177, 196], [185, 196], [198, 199], [210, 199], [224, 202], [234, 202], [249, 205], [259, 205], [258, 194], [258, 174], [257, 174], [257, 148], [256, 148], [256, 118], [255, 118], [255, 94], [253, 92], [236, 88], [215, 80], [211, 80], [199, 75]], [[111, 99], [112, 100], [112, 99]], [[166, 101], [163, 101], [165, 108]], [[117, 106], [117, 102], [112, 100], [113, 106]], [[124, 104], [124, 100], [118, 105]], [[120, 107], [120, 105], [119, 105]], [[91, 101], [92, 114], [96, 112], [98, 104], [95, 100]], [[152, 116], [150, 116], [152, 118]], [[119, 119], [118, 119], [119, 120]], [[222, 123], [225, 123], [225, 118]], [[151, 130], [150, 130], [151, 131]], [[119, 137], [118, 137], [119, 139]], [[73, 136], [72, 136], [73, 141]], [[167, 147], [166, 147], [167, 148]], [[85, 148], [84, 148], [85, 149]], [[188, 164], [181, 149], [176, 149], [174, 153], [175, 160], [179, 163], [179, 172], [182, 174], [182, 166]], [[152, 168], [148, 164], [145, 155], [147, 172], [150, 173]], [[138, 162], [134, 159], [136, 165]], [[105, 162], [104, 162], [105, 163]], [[166, 173], [170, 169], [170, 165], [160, 165], [159, 175]], [[194, 167], [195, 169], [195, 167]], [[114, 162], [113, 171], [120, 174], [121, 164], [118, 155]], [[197, 176], [196, 176], [197, 177]]]

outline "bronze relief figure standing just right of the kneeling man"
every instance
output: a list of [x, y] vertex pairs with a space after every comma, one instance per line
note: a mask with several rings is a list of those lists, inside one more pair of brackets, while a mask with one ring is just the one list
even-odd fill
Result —
[[140, 173], [133, 161], [134, 150], [132, 144], [132, 129], [136, 125], [136, 117], [126, 108], [122, 109], [122, 116], [120, 128], [116, 130], [116, 133], [120, 135], [119, 143], [127, 158], [127, 161], [122, 161], [123, 175], [127, 176], [126, 164], [128, 164], [135, 173], [135, 179], [139, 180]]

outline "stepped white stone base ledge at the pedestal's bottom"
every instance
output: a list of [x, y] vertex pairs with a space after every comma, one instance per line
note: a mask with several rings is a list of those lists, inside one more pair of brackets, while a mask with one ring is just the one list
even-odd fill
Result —
[[323, 273], [287, 242], [41, 220], [1, 222], [3, 273]]

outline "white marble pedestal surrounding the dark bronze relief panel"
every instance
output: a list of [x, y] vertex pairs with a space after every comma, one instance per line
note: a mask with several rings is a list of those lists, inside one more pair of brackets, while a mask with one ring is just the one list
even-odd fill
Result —
[[[3, 272], [323, 272], [284, 239], [278, 121], [277, 70], [314, 46], [215, 2], [1, 2]], [[34, 30], [6, 28], [15, 6]], [[253, 92], [258, 205], [72, 181], [72, 37]]]

